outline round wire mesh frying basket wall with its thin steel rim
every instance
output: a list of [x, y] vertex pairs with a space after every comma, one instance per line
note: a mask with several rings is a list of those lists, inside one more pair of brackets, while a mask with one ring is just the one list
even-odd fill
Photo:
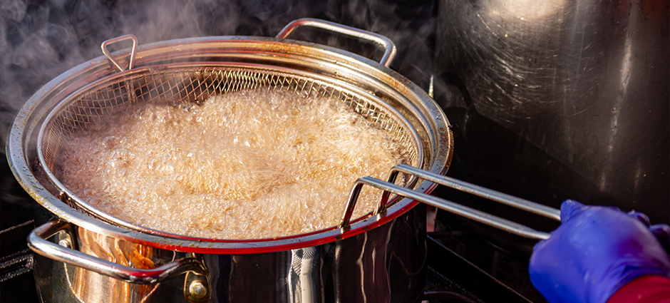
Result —
[[[71, 207], [115, 225], [180, 237], [120, 220], [77, 197], [61, 182], [64, 147], [93, 125], [143, 104], [197, 106], [210, 96], [262, 88], [289, 91], [298, 98], [342, 103], [368, 120], [373, 128], [387, 133], [386, 137], [408, 155], [408, 163], [415, 167], [423, 165], [423, 148], [414, 126], [373, 93], [306, 71], [234, 63], [175, 63], [135, 68], [93, 82], [63, 99], [46, 117], [38, 134], [38, 160], [61, 200]], [[407, 186], [412, 183], [410, 180]]]

